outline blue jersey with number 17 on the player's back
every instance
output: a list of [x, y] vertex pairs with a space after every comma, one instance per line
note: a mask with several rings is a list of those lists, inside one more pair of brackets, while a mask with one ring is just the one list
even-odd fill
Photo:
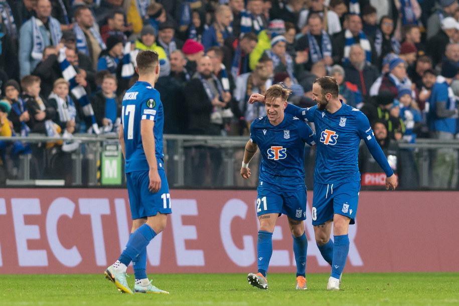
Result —
[[147, 82], [136, 82], [123, 97], [121, 123], [126, 149], [126, 173], [149, 169], [140, 135], [141, 120], [155, 121], [156, 158], [158, 163], [163, 163], [164, 109], [159, 91]]

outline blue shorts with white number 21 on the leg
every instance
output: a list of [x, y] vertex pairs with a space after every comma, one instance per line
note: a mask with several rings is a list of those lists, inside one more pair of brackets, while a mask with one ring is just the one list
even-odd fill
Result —
[[302, 191], [276, 191], [272, 185], [263, 182], [257, 191], [257, 216], [283, 213], [294, 220], [306, 219], [306, 186]]

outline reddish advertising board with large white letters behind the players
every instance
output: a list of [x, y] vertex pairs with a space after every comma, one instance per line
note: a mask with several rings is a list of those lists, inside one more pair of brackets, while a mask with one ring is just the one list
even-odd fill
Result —
[[[307, 271], [328, 272], [314, 241], [312, 194]], [[171, 198], [168, 226], [148, 246], [147, 272], [256, 271], [255, 190], [171, 190]], [[458, 198], [362, 191], [345, 272], [459, 271]], [[129, 218], [123, 189], [0, 189], [0, 274], [101, 272], [124, 247]], [[281, 216], [270, 272], [295, 271], [291, 245]]]

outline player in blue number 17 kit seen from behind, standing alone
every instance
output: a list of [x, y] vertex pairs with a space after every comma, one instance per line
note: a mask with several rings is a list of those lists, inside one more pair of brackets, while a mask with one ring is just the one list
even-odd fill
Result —
[[164, 170], [164, 109], [154, 88], [160, 74], [158, 53], [142, 51], [136, 57], [138, 81], [124, 94], [119, 141], [125, 172], [132, 228], [118, 260], [104, 274], [118, 290], [132, 293], [126, 269], [132, 262], [134, 292], [169, 293], [151, 284], [146, 276], [146, 246], [166, 227], [171, 196]]

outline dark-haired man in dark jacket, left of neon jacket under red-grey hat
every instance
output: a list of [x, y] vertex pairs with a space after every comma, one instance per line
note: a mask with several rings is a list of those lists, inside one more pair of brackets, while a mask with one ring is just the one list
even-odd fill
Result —
[[250, 72], [249, 56], [255, 49], [257, 41], [256, 35], [249, 32], [245, 33], [241, 39], [236, 39], [230, 45], [226, 44], [223, 47], [225, 66], [227, 68], [231, 67], [233, 78]]

